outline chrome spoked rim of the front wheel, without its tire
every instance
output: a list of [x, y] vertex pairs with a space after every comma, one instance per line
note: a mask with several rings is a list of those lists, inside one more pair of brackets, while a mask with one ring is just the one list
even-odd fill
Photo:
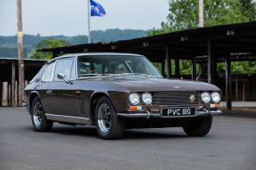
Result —
[[101, 131], [105, 134], [110, 130], [111, 127], [111, 109], [103, 103], [98, 110], [98, 124]]

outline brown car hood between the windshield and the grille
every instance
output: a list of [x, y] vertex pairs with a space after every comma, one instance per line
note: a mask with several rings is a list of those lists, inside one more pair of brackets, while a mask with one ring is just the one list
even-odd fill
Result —
[[159, 77], [115, 77], [108, 79], [111, 83], [126, 87], [132, 92], [153, 91], [220, 91], [215, 85], [176, 78]]

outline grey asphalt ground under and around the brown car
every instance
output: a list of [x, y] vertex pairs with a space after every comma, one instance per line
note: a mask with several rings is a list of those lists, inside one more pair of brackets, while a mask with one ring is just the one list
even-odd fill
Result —
[[256, 113], [225, 111], [204, 137], [162, 128], [103, 141], [95, 126], [37, 133], [26, 109], [0, 109], [0, 169], [256, 169]]

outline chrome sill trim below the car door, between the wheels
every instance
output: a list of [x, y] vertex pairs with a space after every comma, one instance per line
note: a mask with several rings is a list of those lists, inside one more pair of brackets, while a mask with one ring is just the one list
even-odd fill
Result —
[[69, 123], [80, 124], [80, 125], [92, 125], [91, 119], [87, 117], [71, 117], [71, 116], [55, 115], [55, 114], [49, 114], [49, 113], [45, 113], [45, 117], [49, 120], [53, 120], [56, 122], [69, 122]]

